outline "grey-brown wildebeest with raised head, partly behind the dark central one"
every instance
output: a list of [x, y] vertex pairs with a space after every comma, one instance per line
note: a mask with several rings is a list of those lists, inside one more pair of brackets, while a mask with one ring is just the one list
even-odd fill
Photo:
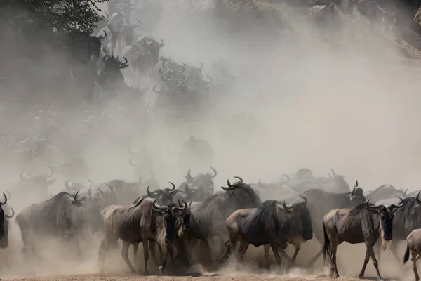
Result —
[[220, 255], [225, 251], [223, 243], [229, 238], [225, 220], [236, 210], [257, 208], [262, 204], [253, 188], [242, 180], [234, 184], [227, 180], [227, 185], [227, 188], [222, 187], [224, 192], [217, 192], [203, 202], [192, 204], [190, 230], [187, 232], [189, 246], [200, 241], [203, 247], [201, 256], [206, 262], [211, 261], [209, 240], [213, 237], [222, 240]]

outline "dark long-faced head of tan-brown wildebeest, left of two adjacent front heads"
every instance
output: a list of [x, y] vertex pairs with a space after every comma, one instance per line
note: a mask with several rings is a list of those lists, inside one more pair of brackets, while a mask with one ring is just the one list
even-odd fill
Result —
[[[153, 210], [156, 214], [163, 216], [163, 224], [164, 228], [161, 230], [159, 240], [165, 243], [172, 243], [175, 237], [175, 221], [177, 221], [177, 216], [175, 216], [175, 211], [180, 209], [178, 207], [168, 207], [168, 206], [157, 206], [156, 205], [157, 199], [154, 200], [152, 206]], [[187, 204], [185, 204], [185, 209], [187, 208]]]

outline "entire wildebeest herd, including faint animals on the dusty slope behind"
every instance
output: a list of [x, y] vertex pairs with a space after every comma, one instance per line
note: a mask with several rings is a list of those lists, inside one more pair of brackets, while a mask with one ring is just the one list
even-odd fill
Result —
[[[356, 19], [350, 16], [354, 6], [361, 15], [377, 23], [391, 25], [394, 21], [393, 13], [385, 11], [374, 0], [325, 4], [308, 11], [309, 18], [318, 27], [354, 22]], [[412, 254], [415, 277], [419, 280], [416, 261], [421, 254], [421, 235], [417, 230], [421, 228], [420, 192], [408, 193], [387, 184], [365, 191], [358, 181], [350, 188], [344, 176], [333, 169], [328, 177], [315, 177], [307, 168], [283, 174], [281, 181], [270, 183], [261, 179], [257, 183], [248, 182], [246, 175], [246, 181], [241, 176], [233, 176], [236, 182], [228, 179], [227, 186], [218, 191], [215, 188], [218, 169], [213, 167], [215, 152], [206, 140], [193, 136], [176, 152], [178, 164], [185, 170], [185, 181], [159, 183], [155, 176], [159, 168], [155, 165], [159, 162], [160, 148], [132, 148], [128, 143], [136, 129], [121, 126], [124, 123], [121, 121], [131, 117], [147, 126], [147, 116], [142, 115], [147, 110], [162, 115], [170, 124], [196, 120], [212, 109], [210, 96], [217, 91], [227, 91], [235, 79], [232, 64], [223, 59], [212, 66], [206, 81], [203, 63], [197, 62], [194, 66], [160, 55], [165, 41], [137, 32], [142, 21], [131, 19], [133, 6], [135, 4], [128, 1], [109, 1], [107, 17], [98, 23], [96, 35], [86, 34], [69, 44], [74, 52], [70, 74], [79, 90], [90, 100], [114, 102], [116, 110], [86, 110], [74, 118], [81, 127], [62, 129], [66, 117], [53, 105], [40, 103], [32, 107], [24, 120], [40, 128], [39, 133], [25, 134], [3, 128], [1, 153], [18, 155], [22, 163], [42, 162], [48, 173], [21, 171], [18, 188], [30, 188], [43, 198], [17, 214], [8, 206], [13, 190], [4, 191], [0, 201], [0, 248], [8, 247], [9, 221], [15, 217], [25, 256], [39, 256], [39, 237], [50, 236], [72, 246], [76, 254], [81, 255], [80, 240], [88, 234], [100, 237], [100, 272], [105, 271], [110, 249], [121, 247], [129, 270], [148, 275], [149, 254], [161, 274], [166, 272], [167, 263], [173, 270], [174, 265], [186, 270], [194, 264], [215, 270], [232, 257], [243, 262], [250, 244], [263, 246], [265, 266], [269, 266], [269, 249], [272, 249], [276, 264], [281, 266], [282, 256], [290, 268], [295, 265], [302, 244], [315, 238], [320, 248], [308, 259], [308, 268], [323, 256], [330, 263], [330, 275], [339, 277], [338, 245], [364, 243], [366, 256], [359, 276], [364, 276], [371, 258], [381, 279], [380, 250], [387, 249], [387, 242], [391, 241], [390, 249], [401, 263], [403, 256], [397, 252], [397, 244], [407, 240], [403, 262]], [[154, 105], [147, 103], [145, 108], [139, 109], [126, 102], [128, 96], [140, 98], [149, 89], [128, 86], [123, 70], [128, 70], [128, 77], [135, 80], [146, 77], [154, 81], [152, 91], [157, 95]], [[99, 90], [95, 89], [98, 86]], [[122, 96], [124, 98], [119, 100]], [[118, 140], [114, 141], [128, 147], [131, 155], [128, 164], [142, 174], [138, 181], [109, 178], [97, 185], [88, 180], [83, 142], [75, 140], [94, 134], [102, 126], [110, 131], [118, 130], [115, 134]], [[63, 151], [66, 151], [64, 155], [60, 154]], [[56, 156], [63, 161], [53, 165], [50, 160]], [[62, 191], [53, 195], [49, 186], [55, 184], [57, 170], [67, 180]], [[143, 176], [145, 173], [149, 173], [148, 179]], [[90, 183], [72, 181], [75, 175], [85, 176]], [[136, 254], [140, 243], [144, 268], [138, 270]], [[293, 256], [285, 251], [288, 244], [295, 247]], [[134, 264], [128, 256], [131, 245]]]

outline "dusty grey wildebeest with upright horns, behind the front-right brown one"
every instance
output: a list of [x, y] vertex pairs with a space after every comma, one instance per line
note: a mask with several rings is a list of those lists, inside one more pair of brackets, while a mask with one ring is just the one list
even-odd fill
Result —
[[[308, 200], [307, 209], [309, 209], [312, 216], [314, 237], [320, 244], [323, 242], [323, 216], [333, 209], [352, 208], [362, 202], [366, 202], [363, 190], [358, 186], [358, 181], [356, 181], [352, 192], [333, 193], [320, 189], [310, 189], [303, 192], [302, 196]], [[319, 251], [310, 259], [309, 266], [313, 266], [321, 254], [322, 251]]]

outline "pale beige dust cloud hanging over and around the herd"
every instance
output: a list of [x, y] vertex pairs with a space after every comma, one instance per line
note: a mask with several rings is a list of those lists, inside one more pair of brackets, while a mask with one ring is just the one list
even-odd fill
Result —
[[[179, 185], [187, 171], [178, 164], [175, 152], [190, 136], [206, 139], [215, 151], [217, 190], [221, 185], [226, 186], [227, 178], [233, 176], [241, 176], [248, 183], [257, 183], [260, 178], [265, 182], [278, 181], [283, 173], [293, 173], [302, 167], [312, 169], [317, 176], [327, 176], [329, 168], [333, 168], [345, 175], [349, 185], [358, 180], [365, 191], [386, 183], [402, 189], [419, 188], [419, 60], [404, 58], [375, 36], [369, 40], [349, 36], [342, 48], [331, 48], [300, 13], [288, 6], [284, 9], [292, 30], [234, 26], [215, 15], [210, 0], [156, 1], [155, 4], [156, 11], [162, 9], [158, 19], [156, 13], [145, 11], [134, 11], [132, 18], [142, 20], [145, 28], [140, 28], [142, 33], [166, 42], [160, 55], [198, 67], [203, 63], [204, 74], [219, 58], [232, 61], [234, 85], [227, 91], [211, 91], [215, 110], [193, 126], [168, 126], [150, 111], [144, 122], [119, 117], [120, 103], [124, 101], [121, 96], [95, 108], [83, 103], [77, 93], [73, 98], [46, 93], [34, 100], [22, 91], [1, 92], [2, 96], [18, 96], [1, 103], [5, 135], [11, 131], [18, 135], [41, 133], [41, 121], [37, 122], [29, 114], [36, 112], [39, 103], [55, 112], [58, 131], [75, 132], [73, 138], [58, 137], [62, 143], [60, 150], [52, 152], [51, 163], [25, 164], [13, 148], [1, 148], [1, 190], [11, 192], [8, 204], [16, 213], [46, 197], [29, 188], [17, 187], [21, 171], [45, 174], [47, 164], [51, 165], [57, 181], [50, 190], [56, 194], [69, 178], [60, 174], [60, 164], [74, 148], [83, 150], [86, 156], [83, 176], [72, 177], [74, 182], [88, 186], [88, 179], [100, 184], [114, 178], [138, 181], [140, 174], [147, 178], [147, 172], [128, 164], [131, 157], [128, 148], [145, 145], [150, 149], [161, 148], [161, 162], [154, 166], [160, 185], [166, 187], [168, 181]], [[105, 7], [101, 7], [103, 11], [107, 10]], [[347, 29], [349, 34], [367, 33], [366, 25], [355, 24]], [[15, 55], [18, 54], [11, 54]], [[156, 93], [151, 91], [156, 81], [134, 79], [129, 72], [129, 69], [123, 71], [128, 84], [149, 88], [144, 100], [132, 103], [130, 110], [145, 110], [147, 103], [156, 99]], [[4, 90], [0, 88], [0, 91]], [[115, 118], [98, 126], [85, 125], [86, 119], [113, 113]], [[242, 115], [244, 124], [230, 122], [235, 115]], [[191, 168], [192, 174], [200, 172], [194, 166]], [[4, 277], [97, 272], [100, 237], [88, 237], [82, 242], [83, 260], [77, 259], [72, 249], [51, 240], [39, 241], [42, 261], [26, 259], [14, 218], [9, 240], [8, 249], [0, 251], [0, 270]], [[401, 247], [399, 253], [403, 255]], [[288, 254], [293, 252], [290, 248]], [[133, 259], [131, 249], [129, 257]], [[323, 261], [311, 270], [306, 269], [308, 256], [318, 250], [319, 244], [314, 239], [307, 242], [298, 254], [298, 268], [281, 274], [314, 277], [323, 273]], [[361, 244], [345, 243], [339, 247], [338, 267], [342, 276], [356, 275], [364, 251]], [[138, 256], [142, 263], [142, 254]], [[262, 249], [250, 247], [246, 266], [230, 263], [220, 274], [276, 274], [276, 266], [269, 271], [259, 268], [262, 256]], [[106, 265], [107, 273], [127, 272], [119, 250], [109, 254]], [[151, 270], [156, 270], [153, 263]], [[387, 251], [382, 254], [380, 270], [384, 276], [401, 278], [406, 276], [402, 273], [408, 268], [404, 270]], [[371, 263], [366, 275], [375, 275]]]

